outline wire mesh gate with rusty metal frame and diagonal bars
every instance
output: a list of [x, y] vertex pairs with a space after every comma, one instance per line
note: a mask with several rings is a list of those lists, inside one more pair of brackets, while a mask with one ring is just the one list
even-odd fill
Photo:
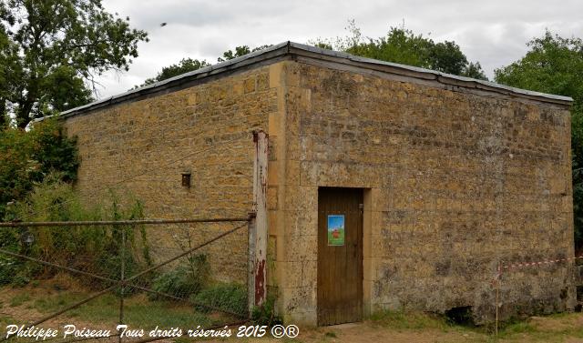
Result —
[[250, 218], [0, 223], [0, 341], [9, 325], [113, 342], [244, 323]]

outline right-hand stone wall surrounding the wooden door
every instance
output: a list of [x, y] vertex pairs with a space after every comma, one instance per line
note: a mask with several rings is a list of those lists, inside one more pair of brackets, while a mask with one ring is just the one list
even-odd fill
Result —
[[[318, 187], [363, 187], [364, 304], [495, 314], [499, 262], [573, 256], [568, 108], [286, 62], [270, 129], [280, 308], [315, 324]], [[449, 86], [452, 88], [452, 86]], [[501, 315], [573, 307], [572, 264], [503, 274]]]

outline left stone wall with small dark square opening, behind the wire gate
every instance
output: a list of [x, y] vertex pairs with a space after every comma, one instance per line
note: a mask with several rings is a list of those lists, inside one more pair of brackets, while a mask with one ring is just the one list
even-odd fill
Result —
[[[87, 198], [137, 197], [147, 217], [247, 217], [251, 211], [251, 131], [277, 111], [267, 68], [110, 106], [66, 119], [78, 136], [77, 189]], [[181, 173], [191, 173], [191, 187]], [[216, 237], [235, 225], [148, 226], [156, 260]], [[204, 249], [217, 278], [246, 280], [246, 227]]]

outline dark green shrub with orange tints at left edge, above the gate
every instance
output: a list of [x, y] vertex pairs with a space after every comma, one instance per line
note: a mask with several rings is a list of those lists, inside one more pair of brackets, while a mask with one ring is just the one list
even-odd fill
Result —
[[79, 166], [76, 143], [55, 119], [36, 123], [29, 131], [0, 130], [0, 218], [14, 219], [5, 217], [8, 203], [26, 197], [51, 172], [74, 181]]

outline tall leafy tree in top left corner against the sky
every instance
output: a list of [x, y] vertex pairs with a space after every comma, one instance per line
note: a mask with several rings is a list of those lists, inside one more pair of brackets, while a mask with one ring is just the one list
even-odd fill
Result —
[[[95, 77], [128, 70], [144, 31], [101, 0], [5, 0], [0, 4], [0, 110], [19, 127], [86, 104]], [[92, 88], [92, 89], [90, 89]]]

